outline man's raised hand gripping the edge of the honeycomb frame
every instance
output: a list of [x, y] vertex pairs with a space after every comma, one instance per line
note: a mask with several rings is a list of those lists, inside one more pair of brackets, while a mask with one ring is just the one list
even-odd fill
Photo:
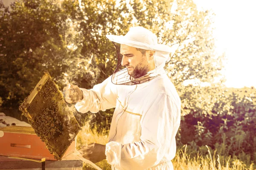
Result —
[[70, 83], [70, 86], [66, 86], [63, 88], [63, 91], [66, 94], [66, 97], [65, 97], [66, 102], [68, 103], [80, 102], [81, 99], [83, 99], [83, 92], [80, 90], [80, 88], [77, 85], [73, 85]]

